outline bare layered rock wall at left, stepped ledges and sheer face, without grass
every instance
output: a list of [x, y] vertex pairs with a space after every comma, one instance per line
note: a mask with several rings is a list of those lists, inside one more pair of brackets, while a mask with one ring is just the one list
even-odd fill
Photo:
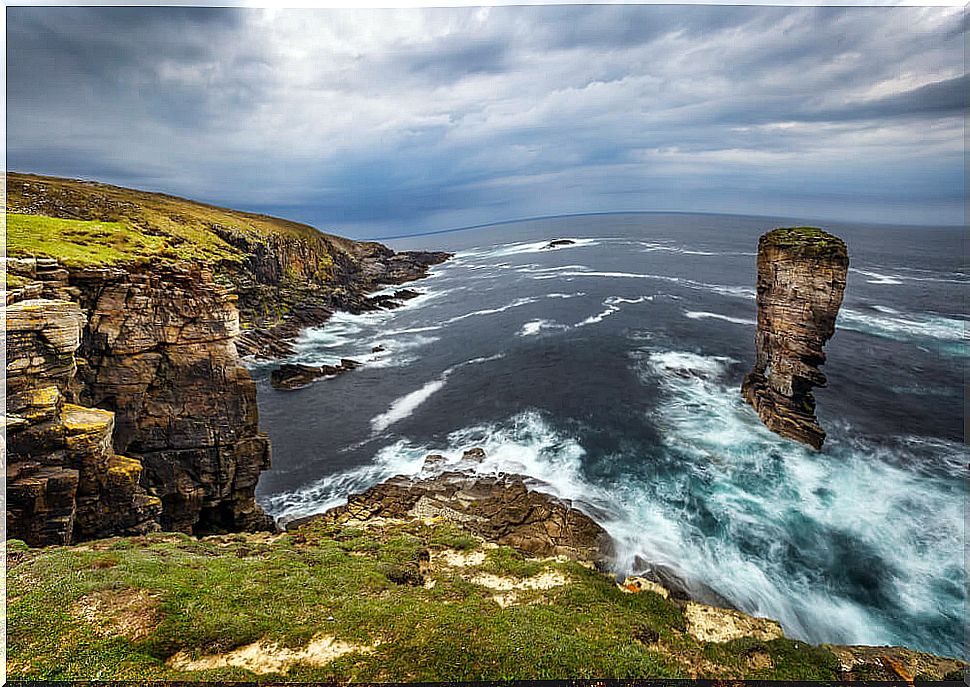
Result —
[[12, 267], [47, 296], [7, 311], [12, 536], [273, 529], [235, 297], [191, 265]]

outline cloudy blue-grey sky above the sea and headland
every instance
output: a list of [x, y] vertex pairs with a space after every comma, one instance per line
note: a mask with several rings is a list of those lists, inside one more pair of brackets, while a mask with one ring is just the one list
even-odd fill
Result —
[[962, 8], [8, 7], [7, 167], [355, 238], [721, 212], [962, 224]]

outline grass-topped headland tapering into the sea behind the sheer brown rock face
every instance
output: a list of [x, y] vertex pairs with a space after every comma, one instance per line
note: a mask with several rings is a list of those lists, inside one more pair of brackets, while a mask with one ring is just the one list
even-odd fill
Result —
[[381, 284], [425, 276], [447, 253], [401, 252], [266, 215], [77, 179], [7, 175], [8, 254], [74, 267], [191, 262], [238, 297], [243, 355], [276, 358], [335, 310], [375, 309]]

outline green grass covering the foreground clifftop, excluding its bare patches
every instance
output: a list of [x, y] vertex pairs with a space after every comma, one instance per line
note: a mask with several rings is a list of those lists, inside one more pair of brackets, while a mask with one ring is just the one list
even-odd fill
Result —
[[[741, 677], [748, 645], [711, 648], [685, 632], [680, 608], [657, 594], [625, 594], [613, 579], [575, 562], [535, 561], [507, 547], [484, 549], [479, 567], [436, 564], [432, 588], [392, 581], [429, 551], [482, 546], [453, 525], [342, 528], [311, 523], [275, 541], [245, 535], [113, 539], [27, 550], [9, 542], [8, 671], [12, 679], [389, 681], [594, 677]], [[497, 593], [471, 581], [554, 570], [568, 584]], [[109, 593], [154, 599], [150, 633], [108, 631], [112, 621], [79, 613]], [[120, 613], [120, 611], [119, 611]], [[123, 617], [118, 615], [118, 618]], [[120, 621], [118, 621], [120, 622]], [[107, 629], [106, 629], [107, 628]], [[256, 641], [304, 647], [316, 635], [373, 646], [322, 666], [279, 674], [239, 667], [178, 671], [180, 651], [213, 655]], [[831, 654], [799, 643], [764, 643], [775, 668], [758, 676], [833, 678]], [[695, 671], [696, 672], [696, 671]]]

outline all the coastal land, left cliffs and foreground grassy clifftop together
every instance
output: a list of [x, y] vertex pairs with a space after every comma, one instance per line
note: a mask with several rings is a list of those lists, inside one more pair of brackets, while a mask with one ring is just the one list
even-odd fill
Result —
[[243, 357], [394, 307], [369, 294], [448, 255], [91, 182], [8, 189], [10, 678], [961, 679], [785, 637], [649, 564], [618, 577], [589, 514], [476, 474], [474, 446], [279, 531]]

